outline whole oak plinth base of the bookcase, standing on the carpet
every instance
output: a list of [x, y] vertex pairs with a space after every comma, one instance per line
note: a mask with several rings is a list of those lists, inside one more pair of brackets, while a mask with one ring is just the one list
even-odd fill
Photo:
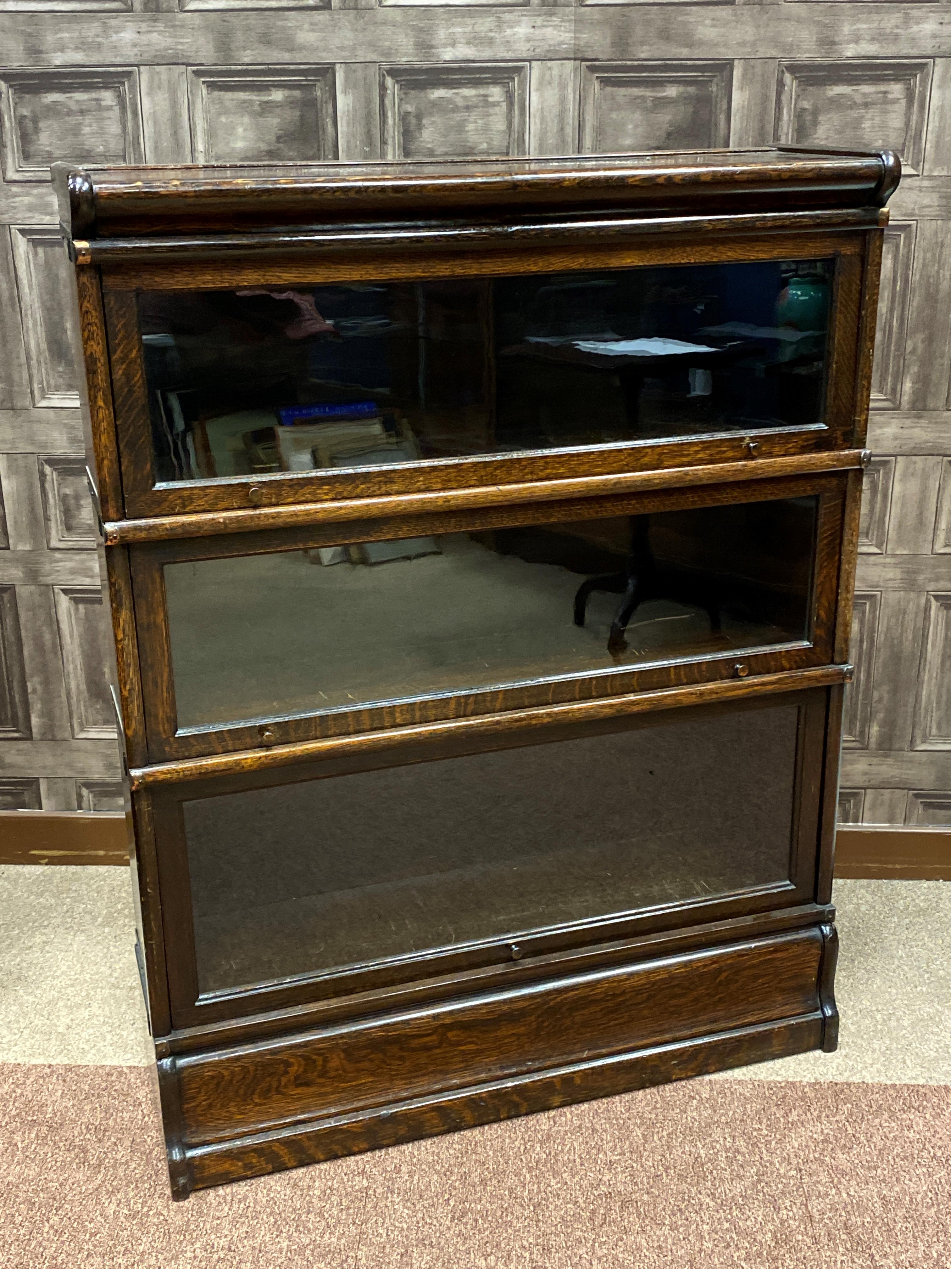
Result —
[[172, 1195], [836, 1047], [831, 925], [158, 1063]]

